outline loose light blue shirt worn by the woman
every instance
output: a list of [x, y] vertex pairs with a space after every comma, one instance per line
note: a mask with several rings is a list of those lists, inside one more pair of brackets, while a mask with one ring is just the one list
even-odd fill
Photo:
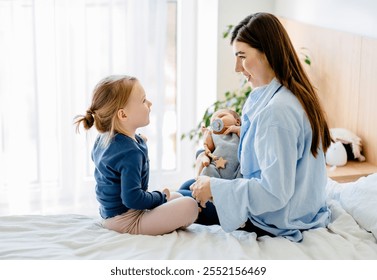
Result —
[[248, 219], [276, 236], [302, 239], [301, 230], [325, 227], [327, 173], [322, 149], [310, 151], [312, 129], [298, 99], [273, 79], [246, 100], [238, 156], [243, 178], [211, 178], [225, 231]]

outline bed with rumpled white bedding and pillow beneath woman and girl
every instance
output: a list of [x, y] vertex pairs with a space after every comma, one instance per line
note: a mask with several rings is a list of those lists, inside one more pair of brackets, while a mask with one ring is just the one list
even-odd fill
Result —
[[377, 260], [377, 173], [327, 184], [328, 228], [304, 232], [300, 243], [282, 237], [191, 225], [162, 236], [118, 234], [99, 217], [0, 217], [2, 260]]

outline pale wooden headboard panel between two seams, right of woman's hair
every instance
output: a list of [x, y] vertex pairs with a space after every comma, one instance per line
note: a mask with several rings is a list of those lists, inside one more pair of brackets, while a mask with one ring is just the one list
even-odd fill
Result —
[[329, 125], [356, 131], [361, 41], [340, 32], [321, 33], [314, 37], [312, 73]]

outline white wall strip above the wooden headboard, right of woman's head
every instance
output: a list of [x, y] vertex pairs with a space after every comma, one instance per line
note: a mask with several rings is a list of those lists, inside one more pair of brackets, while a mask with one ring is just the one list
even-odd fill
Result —
[[275, 14], [317, 26], [377, 38], [375, 0], [275, 0]]

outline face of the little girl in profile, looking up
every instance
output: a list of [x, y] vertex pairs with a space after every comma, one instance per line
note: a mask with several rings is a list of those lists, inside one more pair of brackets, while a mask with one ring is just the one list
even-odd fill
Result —
[[136, 82], [123, 109], [126, 116], [123, 124], [126, 125], [126, 130], [134, 132], [139, 127], [148, 125], [151, 106], [152, 102], [146, 98], [143, 87]]

